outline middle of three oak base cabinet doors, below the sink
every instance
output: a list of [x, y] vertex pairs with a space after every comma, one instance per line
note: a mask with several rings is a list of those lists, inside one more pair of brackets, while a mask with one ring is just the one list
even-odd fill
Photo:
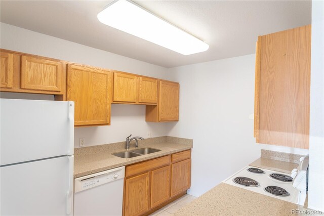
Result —
[[151, 208], [170, 199], [170, 166], [151, 172]]

